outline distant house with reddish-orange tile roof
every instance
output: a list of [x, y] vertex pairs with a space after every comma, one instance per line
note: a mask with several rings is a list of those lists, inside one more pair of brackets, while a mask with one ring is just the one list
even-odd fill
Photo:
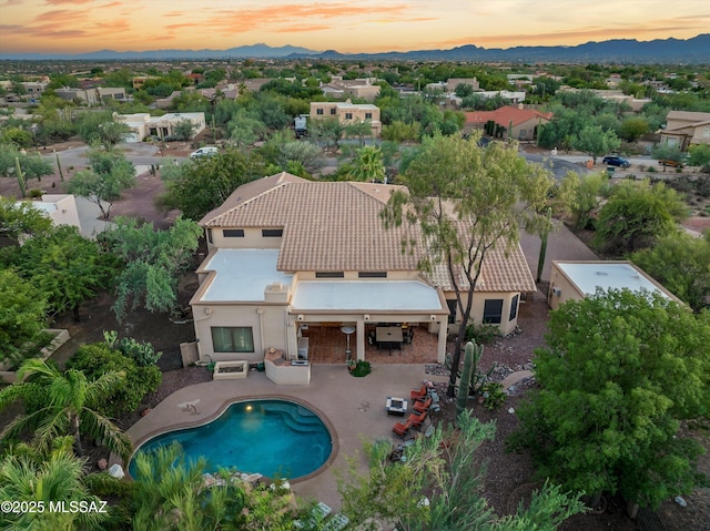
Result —
[[494, 137], [513, 137], [521, 141], [534, 141], [538, 127], [552, 120], [552, 113], [541, 113], [520, 106], [501, 106], [495, 111], [476, 111], [466, 113], [464, 131], [484, 130]]

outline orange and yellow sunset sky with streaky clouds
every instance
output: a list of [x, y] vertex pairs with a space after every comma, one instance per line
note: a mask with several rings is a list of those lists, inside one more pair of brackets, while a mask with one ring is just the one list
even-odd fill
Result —
[[688, 39], [701, 0], [0, 0], [0, 52], [215, 49], [343, 53]]

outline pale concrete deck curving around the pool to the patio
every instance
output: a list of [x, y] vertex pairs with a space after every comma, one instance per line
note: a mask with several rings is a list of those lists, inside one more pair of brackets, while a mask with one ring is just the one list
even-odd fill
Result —
[[311, 371], [310, 386], [277, 386], [264, 372], [252, 370], [246, 379], [213, 380], [185, 387], [165, 398], [126, 433], [138, 446], [171, 429], [205, 423], [232, 401], [293, 398], [312, 406], [325, 417], [333, 431], [333, 447], [337, 449], [326, 469], [296, 481], [293, 490], [300, 498], [323, 501], [337, 510], [341, 499], [333, 471], [346, 469], [345, 457], [362, 453], [363, 440], [390, 439], [393, 443], [402, 442], [402, 438], [392, 432], [392, 427], [400, 419], [385, 411], [387, 397], [408, 400], [409, 391], [418, 389], [422, 380], [446, 381], [447, 378], [426, 375], [424, 365], [414, 364], [374, 365], [373, 371], [364, 378], [352, 377], [343, 365], [316, 364]]

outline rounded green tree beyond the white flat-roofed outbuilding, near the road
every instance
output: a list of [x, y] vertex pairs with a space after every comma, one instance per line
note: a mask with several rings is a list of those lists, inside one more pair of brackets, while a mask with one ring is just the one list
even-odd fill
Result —
[[676, 232], [677, 222], [687, 216], [688, 206], [673, 188], [663, 183], [623, 181], [599, 211], [594, 243], [611, 252], [630, 253]]

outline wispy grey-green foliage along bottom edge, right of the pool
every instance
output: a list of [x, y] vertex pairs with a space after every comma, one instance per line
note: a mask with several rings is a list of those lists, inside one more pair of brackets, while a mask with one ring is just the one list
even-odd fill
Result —
[[459, 416], [458, 425], [456, 433], [439, 426], [430, 437], [403, 447], [397, 462], [392, 462], [389, 441], [365, 443], [369, 464], [365, 474], [359, 472], [359, 459], [348, 458], [347, 474], [338, 477], [338, 492], [351, 522], [357, 527], [381, 519], [406, 531], [552, 531], [584, 510], [578, 497], [546, 483], [527, 509], [497, 518], [481, 493], [484, 473], [475, 458], [480, 445], [493, 439], [495, 425], [481, 423], [469, 410]]

